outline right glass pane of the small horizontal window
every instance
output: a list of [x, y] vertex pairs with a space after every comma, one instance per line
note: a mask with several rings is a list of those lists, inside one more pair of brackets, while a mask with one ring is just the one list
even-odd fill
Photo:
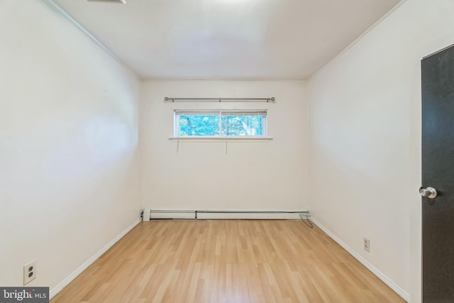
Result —
[[222, 136], [263, 136], [263, 116], [223, 114]]

